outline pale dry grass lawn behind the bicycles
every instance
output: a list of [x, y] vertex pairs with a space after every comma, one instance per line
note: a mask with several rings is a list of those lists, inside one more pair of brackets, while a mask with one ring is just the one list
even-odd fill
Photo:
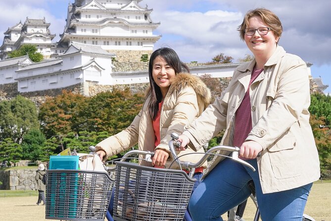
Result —
[[[0, 190], [0, 221], [45, 220], [45, 206], [37, 206], [38, 191]], [[331, 221], [331, 180], [317, 181], [308, 197], [305, 214], [316, 221]], [[246, 221], [253, 221], [255, 205], [249, 198], [244, 212]], [[222, 218], [226, 221], [226, 215]]]

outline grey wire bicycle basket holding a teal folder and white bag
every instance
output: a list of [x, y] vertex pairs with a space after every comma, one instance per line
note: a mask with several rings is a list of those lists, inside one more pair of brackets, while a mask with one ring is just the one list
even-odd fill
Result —
[[104, 221], [114, 183], [107, 173], [49, 169], [46, 219]]

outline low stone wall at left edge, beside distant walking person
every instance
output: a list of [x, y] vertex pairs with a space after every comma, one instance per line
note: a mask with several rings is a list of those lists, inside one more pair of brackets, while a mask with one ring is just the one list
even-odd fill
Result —
[[37, 169], [6, 169], [0, 170], [3, 190], [35, 190]]

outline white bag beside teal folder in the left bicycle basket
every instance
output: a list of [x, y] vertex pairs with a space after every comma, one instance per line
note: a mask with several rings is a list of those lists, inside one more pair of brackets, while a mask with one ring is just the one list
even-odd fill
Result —
[[79, 167], [83, 170], [93, 170], [107, 172], [98, 155], [92, 154], [77, 154], [79, 156]]

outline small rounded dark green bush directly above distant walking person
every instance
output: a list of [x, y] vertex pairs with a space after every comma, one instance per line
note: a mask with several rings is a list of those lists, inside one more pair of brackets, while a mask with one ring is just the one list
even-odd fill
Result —
[[23, 160], [37, 161], [43, 159], [43, 147], [46, 142], [45, 135], [37, 129], [31, 129], [23, 137], [21, 144]]

